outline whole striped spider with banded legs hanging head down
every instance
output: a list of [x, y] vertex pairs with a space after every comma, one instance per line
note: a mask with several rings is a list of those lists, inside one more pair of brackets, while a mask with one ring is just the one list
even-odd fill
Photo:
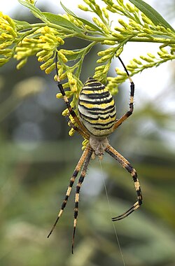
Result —
[[82, 90], [80, 91], [80, 95], [78, 97], [78, 116], [73, 111], [71, 105], [69, 104], [69, 100], [66, 97], [62, 84], [59, 81], [58, 70], [57, 70], [57, 54], [55, 59], [55, 67], [57, 73], [57, 86], [59, 87], [60, 92], [62, 93], [62, 97], [66, 104], [67, 109], [69, 110], [69, 115], [75, 120], [78, 126], [73, 125], [70, 122], [71, 127], [76, 130], [80, 135], [82, 135], [85, 139], [89, 142], [83, 151], [83, 154], [74, 169], [73, 175], [71, 176], [69, 187], [66, 190], [66, 196], [64, 197], [64, 201], [62, 202], [62, 206], [59, 210], [57, 215], [57, 219], [50, 230], [48, 237], [50, 237], [52, 231], [57, 224], [60, 216], [66, 207], [66, 203], [69, 199], [69, 195], [71, 194], [71, 189], [73, 187], [73, 183], [80, 172], [80, 178], [76, 185], [76, 198], [75, 198], [75, 207], [74, 207], [74, 221], [73, 221], [73, 237], [72, 237], [72, 253], [73, 253], [73, 246], [74, 246], [74, 239], [75, 239], [75, 232], [76, 232], [76, 223], [78, 217], [78, 202], [79, 202], [79, 193], [80, 187], [85, 179], [85, 174], [87, 172], [87, 167], [90, 163], [90, 158], [92, 154], [97, 155], [99, 159], [102, 159], [104, 152], [109, 153], [115, 160], [117, 160], [120, 165], [127, 170], [132, 176], [134, 181], [134, 187], [137, 193], [137, 202], [135, 202], [130, 209], [128, 209], [124, 214], [120, 216], [116, 216], [112, 218], [112, 221], [118, 221], [126, 216], [132, 214], [133, 211], [137, 210], [142, 203], [142, 195], [141, 195], [141, 188], [139, 184], [139, 179], [137, 178], [136, 170], [130, 165], [123, 155], [118, 153], [112, 146], [109, 144], [109, 135], [113, 133], [129, 116], [132, 115], [134, 106], [133, 106], [133, 99], [134, 99], [134, 83], [130, 74], [128, 73], [125, 64], [123, 63], [122, 59], [118, 57], [121, 64], [123, 65], [127, 77], [130, 80], [130, 110], [125, 113], [119, 119], [116, 119], [116, 106], [113, 100], [113, 97], [109, 90], [100, 83], [98, 80], [94, 78], [87, 78]]

